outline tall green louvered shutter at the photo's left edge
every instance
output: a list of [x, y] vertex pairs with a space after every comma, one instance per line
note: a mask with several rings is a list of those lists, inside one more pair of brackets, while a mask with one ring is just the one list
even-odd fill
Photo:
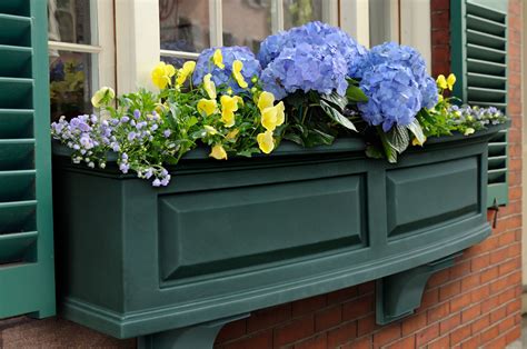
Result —
[[0, 1], [0, 318], [54, 315], [47, 1]]

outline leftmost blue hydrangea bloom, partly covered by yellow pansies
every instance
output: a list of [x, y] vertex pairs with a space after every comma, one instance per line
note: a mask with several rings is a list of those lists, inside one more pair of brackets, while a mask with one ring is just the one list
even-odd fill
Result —
[[249, 88], [252, 86], [251, 79], [253, 77], [260, 76], [260, 62], [256, 59], [255, 54], [247, 47], [233, 46], [233, 47], [222, 47], [221, 54], [223, 56], [225, 68], [220, 69], [215, 66], [212, 61], [212, 56], [218, 48], [210, 48], [203, 50], [198, 58], [196, 63], [196, 69], [192, 74], [193, 83], [200, 84], [203, 81], [203, 77], [208, 73], [212, 74], [212, 81], [216, 86], [229, 84], [229, 87], [235, 91], [235, 93], [240, 92], [242, 89], [238, 86], [236, 80], [231, 78], [232, 76], [232, 62], [239, 60], [243, 63], [243, 69], [241, 69], [241, 74], [249, 84]]

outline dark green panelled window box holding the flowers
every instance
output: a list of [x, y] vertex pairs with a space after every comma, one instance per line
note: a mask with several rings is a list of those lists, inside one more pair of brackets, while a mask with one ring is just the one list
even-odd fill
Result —
[[430, 139], [397, 164], [346, 139], [229, 161], [197, 150], [167, 188], [58, 156], [63, 313], [115, 337], [143, 336], [451, 256], [490, 233], [487, 142], [498, 129]]

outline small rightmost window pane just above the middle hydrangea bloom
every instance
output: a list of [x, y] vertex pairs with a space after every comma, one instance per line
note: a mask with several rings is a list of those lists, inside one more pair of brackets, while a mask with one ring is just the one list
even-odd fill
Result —
[[322, 20], [322, 0], [284, 0], [285, 29]]

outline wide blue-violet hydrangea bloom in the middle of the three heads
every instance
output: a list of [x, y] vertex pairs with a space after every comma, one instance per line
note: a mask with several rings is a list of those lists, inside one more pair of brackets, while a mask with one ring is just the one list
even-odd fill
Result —
[[266, 69], [260, 81], [264, 90], [282, 99], [297, 90], [344, 96], [348, 87], [346, 81], [346, 59], [327, 46], [299, 43], [285, 48]]

